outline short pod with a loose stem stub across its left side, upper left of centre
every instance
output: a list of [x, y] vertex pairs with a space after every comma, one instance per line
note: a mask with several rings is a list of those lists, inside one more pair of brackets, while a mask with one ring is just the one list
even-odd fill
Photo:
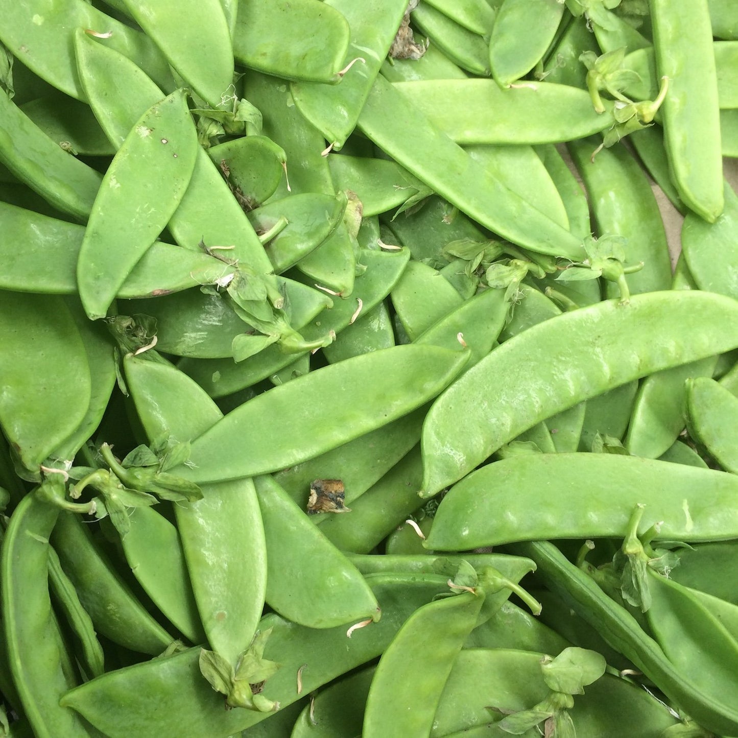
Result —
[[255, 231], [264, 234], [263, 238], [286, 220], [284, 227], [264, 244], [275, 272], [281, 274], [317, 249], [336, 230], [346, 203], [347, 199], [341, 195], [303, 193], [272, 200], [247, 215]]

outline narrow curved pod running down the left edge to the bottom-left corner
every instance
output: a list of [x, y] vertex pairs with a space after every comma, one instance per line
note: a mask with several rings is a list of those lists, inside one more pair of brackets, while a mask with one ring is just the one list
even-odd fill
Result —
[[39, 738], [89, 735], [79, 717], [58, 704], [75, 686], [61, 670], [49, 599], [49, 536], [58, 514], [59, 508], [35, 492], [27, 494], [10, 518], [0, 560], [7, 659], [23, 711]]

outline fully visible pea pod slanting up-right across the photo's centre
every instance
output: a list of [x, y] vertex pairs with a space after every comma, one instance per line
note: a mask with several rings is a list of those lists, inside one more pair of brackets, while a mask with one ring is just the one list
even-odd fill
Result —
[[[306, 461], [368, 433], [434, 397], [469, 359], [435, 346], [393, 346], [356, 356], [275, 387], [232, 410], [193, 441], [193, 481], [218, 481], [273, 472]], [[382, 394], [366, 401], [357, 387], [392, 376]], [[306, 404], [306, 398], [312, 398]], [[330, 398], [330, 401], [326, 401]], [[296, 404], [297, 403], [297, 404]], [[302, 408], [294, 417], [294, 407]], [[269, 424], [263, 424], [269, 418]], [[258, 437], [253, 429], [260, 428]]]

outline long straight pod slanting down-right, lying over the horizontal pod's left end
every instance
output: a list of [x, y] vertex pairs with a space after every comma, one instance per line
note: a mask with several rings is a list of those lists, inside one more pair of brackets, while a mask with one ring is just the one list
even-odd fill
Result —
[[[474, 162], [393, 86], [377, 77], [359, 128], [387, 154], [463, 213], [531, 251], [582, 255], [579, 239]], [[487, 203], [497, 207], [490, 210]]]

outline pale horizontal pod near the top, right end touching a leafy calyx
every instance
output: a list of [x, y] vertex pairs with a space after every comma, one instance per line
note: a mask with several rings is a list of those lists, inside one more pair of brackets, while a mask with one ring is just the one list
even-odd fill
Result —
[[[393, 86], [460, 145], [557, 143], [590, 136], [614, 123], [611, 113], [594, 110], [585, 90], [553, 82], [527, 82], [505, 90], [493, 80], [480, 79]], [[460, 116], [459, 110], [466, 112]]]

